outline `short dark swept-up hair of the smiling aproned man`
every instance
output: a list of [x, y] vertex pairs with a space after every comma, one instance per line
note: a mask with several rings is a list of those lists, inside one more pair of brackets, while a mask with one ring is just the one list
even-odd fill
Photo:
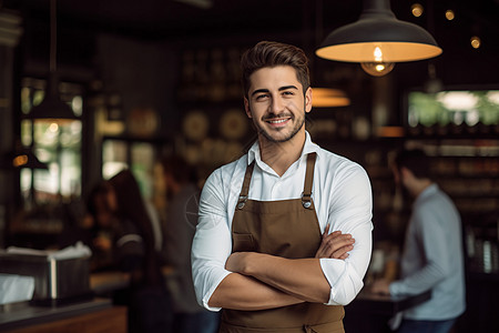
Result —
[[241, 58], [244, 95], [248, 97], [249, 77], [255, 71], [277, 65], [291, 65], [295, 69], [296, 78], [302, 83], [304, 93], [310, 87], [308, 58], [301, 48], [274, 41], [261, 41], [244, 52]]

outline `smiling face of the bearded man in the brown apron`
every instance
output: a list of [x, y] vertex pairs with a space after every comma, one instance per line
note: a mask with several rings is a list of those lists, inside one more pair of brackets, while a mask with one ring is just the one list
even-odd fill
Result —
[[293, 67], [263, 68], [255, 71], [249, 81], [244, 105], [261, 140], [284, 142], [305, 131], [305, 112], [312, 110], [312, 89], [304, 95]]

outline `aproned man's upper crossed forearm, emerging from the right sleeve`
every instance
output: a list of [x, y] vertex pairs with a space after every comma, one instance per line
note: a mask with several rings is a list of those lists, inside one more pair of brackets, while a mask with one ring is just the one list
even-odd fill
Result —
[[234, 253], [227, 270], [249, 275], [296, 299], [327, 303], [330, 286], [319, 259], [284, 259], [255, 252]]

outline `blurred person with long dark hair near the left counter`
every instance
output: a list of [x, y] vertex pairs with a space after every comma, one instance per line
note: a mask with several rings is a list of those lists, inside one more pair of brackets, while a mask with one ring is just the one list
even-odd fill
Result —
[[129, 332], [173, 332], [170, 295], [156, 251], [154, 218], [130, 170], [98, 184], [89, 195], [94, 216], [92, 246], [101, 268], [130, 273], [130, 286], [114, 294], [129, 309]]

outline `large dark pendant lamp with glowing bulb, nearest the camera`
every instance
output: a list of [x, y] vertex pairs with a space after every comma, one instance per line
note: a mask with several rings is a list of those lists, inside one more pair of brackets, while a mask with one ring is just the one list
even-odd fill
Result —
[[316, 50], [324, 59], [360, 62], [376, 77], [390, 72], [395, 62], [429, 59], [441, 52], [428, 31], [398, 20], [389, 0], [364, 0], [359, 19], [330, 32]]

